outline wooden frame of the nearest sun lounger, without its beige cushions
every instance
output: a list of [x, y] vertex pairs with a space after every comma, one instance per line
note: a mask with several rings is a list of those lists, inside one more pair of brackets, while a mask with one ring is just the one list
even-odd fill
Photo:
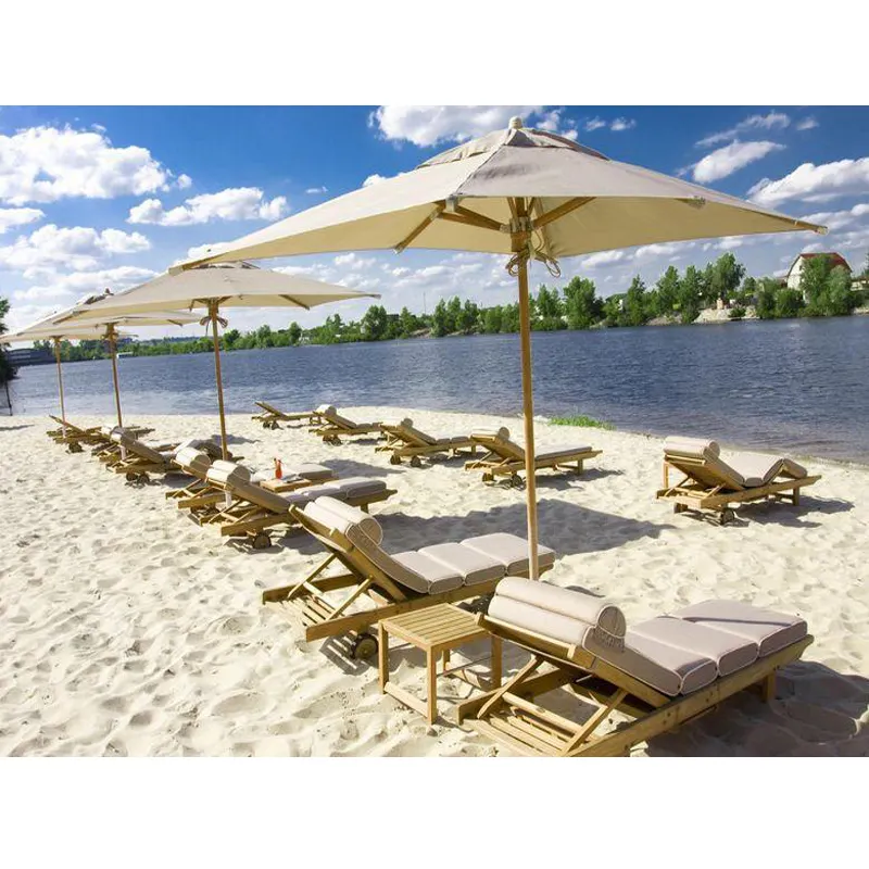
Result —
[[[477, 621], [502, 640], [530, 652], [531, 660], [501, 688], [458, 704], [458, 723], [467, 723], [521, 754], [555, 757], [627, 755], [633, 745], [711, 711], [746, 688], [757, 687], [770, 701], [778, 669], [797, 660], [814, 642], [806, 635], [706, 688], [670, 697], [584, 648], [486, 616], [478, 616]], [[544, 663], [554, 669], [538, 673]], [[559, 688], [568, 688], [596, 706], [583, 723], [534, 703], [534, 697]], [[599, 734], [596, 731], [616, 710], [633, 720]]]

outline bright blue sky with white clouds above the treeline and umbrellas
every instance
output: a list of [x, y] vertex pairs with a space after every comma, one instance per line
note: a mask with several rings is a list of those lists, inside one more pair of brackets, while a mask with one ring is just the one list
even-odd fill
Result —
[[[829, 226], [808, 232], [651, 244], [562, 262], [600, 295], [652, 286], [672, 264], [732, 251], [755, 276], [801, 251], [869, 250], [869, 108], [813, 106], [125, 106], [0, 108], [0, 297], [16, 329], [105, 288], [143, 282], [205, 247], [248, 235], [364, 184], [413, 169], [458, 141], [507, 126], [550, 129], [607, 156], [677, 175]], [[263, 261], [377, 292], [390, 312], [442, 297], [515, 301], [504, 257], [405, 251]], [[532, 287], [553, 281], [537, 265]], [[367, 303], [312, 312], [234, 308], [230, 327], [286, 328]], [[194, 335], [199, 327], [185, 327]], [[142, 329], [142, 337], [172, 332]]]

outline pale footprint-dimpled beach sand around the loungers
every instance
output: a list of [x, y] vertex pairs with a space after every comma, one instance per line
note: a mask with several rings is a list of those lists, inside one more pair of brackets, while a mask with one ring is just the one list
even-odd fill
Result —
[[[394, 408], [433, 432], [505, 420]], [[93, 418], [73, 417], [93, 425]], [[207, 416], [135, 419], [153, 437], [210, 436]], [[515, 433], [520, 420], [506, 420]], [[500, 751], [449, 723], [470, 689], [439, 682], [442, 718], [428, 727], [379, 693], [376, 668], [259, 602], [256, 579], [291, 579], [320, 559], [304, 536], [239, 551], [189, 521], [162, 482], [127, 486], [88, 452], [45, 436], [43, 418], [0, 420], [0, 755], [489, 755]], [[524, 534], [524, 493], [486, 487], [461, 461], [391, 467], [370, 442], [323, 445], [304, 429], [266, 431], [229, 419], [234, 449], [254, 466], [280, 455], [380, 476], [399, 490], [381, 516], [399, 551], [477, 533]], [[743, 695], [652, 755], [869, 753], [869, 470], [820, 461], [823, 479], [798, 508], [751, 505], [725, 528], [654, 501], [660, 441], [538, 427], [541, 448], [591, 442], [604, 454], [582, 478], [539, 478], [541, 540], [561, 558], [546, 580], [603, 592], [630, 619], [708, 597], [798, 613], [816, 638], [766, 706]], [[479, 653], [484, 648], [470, 650]], [[331, 652], [331, 654], [329, 654]], [[415, 654], [396, 651], [393, 678], [414, 688]], [[515, 663], [516, 656], [508, 656]]]

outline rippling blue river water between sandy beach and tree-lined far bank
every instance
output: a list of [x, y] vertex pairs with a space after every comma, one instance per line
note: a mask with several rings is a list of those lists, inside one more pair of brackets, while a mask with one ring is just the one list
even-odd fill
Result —
[[[869, 462], [869, 317], [538, 332], [533, 354], [537, 414]], [[254, 399], [289, 410], [327, 401], [521, 410], [517, 336], [251, 350], [223, 361], [229, 412], [251, 412]], [[119, 370], [128, 414], [216, 412], [211, 354], [127, 357]], [[72, 418], [112, 416], [109, 361], [64, 371]], [[16, 413], [55, 412], [54, 367], [22, 368], [12, 391]]]

